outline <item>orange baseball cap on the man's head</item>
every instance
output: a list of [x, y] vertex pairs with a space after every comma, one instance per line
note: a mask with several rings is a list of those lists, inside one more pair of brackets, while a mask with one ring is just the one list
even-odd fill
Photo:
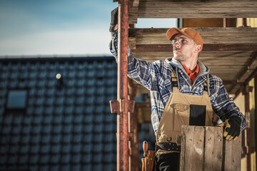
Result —
[[184, 36], [191, 38], [197, 44], [201, 45], [201, 50], [203, 49], [203, 38], [201, 38], [201, 35], [197, 31], [191, 28], [183, 28], [181, 30], [179, 30], [178, 28], [169, 28], [166, 36], [168, 40], [172, 41], [178, 33], [181, 33]]

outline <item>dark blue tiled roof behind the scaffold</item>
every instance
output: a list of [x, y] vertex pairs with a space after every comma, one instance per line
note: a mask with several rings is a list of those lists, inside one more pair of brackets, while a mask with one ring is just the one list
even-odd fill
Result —
[[[0, 170], [116, 170], [116, 70], [113, 57], [0, 59]], [[6, 110], [9, 90], [27, 91], [24, 112]]]

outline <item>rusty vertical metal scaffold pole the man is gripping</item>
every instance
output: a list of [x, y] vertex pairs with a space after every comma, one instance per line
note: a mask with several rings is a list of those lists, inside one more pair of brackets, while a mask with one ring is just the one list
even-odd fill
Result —
[[117, 170], [129, 170], [128, 128], [128, 42], [129, 0], [119, 0], [119, 43], [117, 99], [120, 113], [117, 115]]

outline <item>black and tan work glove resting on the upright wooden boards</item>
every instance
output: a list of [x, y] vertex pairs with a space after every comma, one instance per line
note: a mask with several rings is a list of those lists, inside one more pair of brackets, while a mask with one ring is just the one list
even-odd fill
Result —
[[217, 126], [225, 126], [223, 136], [226, 138], [226, 140], [236, 140], [241, 133], [241, 118], [232, 116], [230, 119]]

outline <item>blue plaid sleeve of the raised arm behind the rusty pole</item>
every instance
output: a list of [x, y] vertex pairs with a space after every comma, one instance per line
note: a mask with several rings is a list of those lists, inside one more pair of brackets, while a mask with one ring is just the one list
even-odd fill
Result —
[[[118, 30], [111, 33], [111, 42], [109, 48], [113, 56], [118, 61]], [[137, 83], [151, 90], [152, 78], [155, 75], [155, 66], [153, 63], [135, 58], [131, 49], [128, 50], [128, 76]]]

